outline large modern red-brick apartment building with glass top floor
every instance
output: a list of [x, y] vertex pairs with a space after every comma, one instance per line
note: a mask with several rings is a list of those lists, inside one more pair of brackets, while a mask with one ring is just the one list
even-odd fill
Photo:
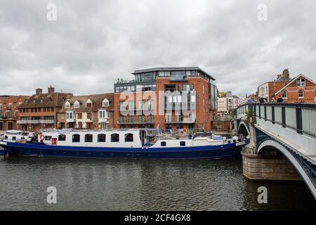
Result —
[[197, 67], [135, 70], [114, 83], [115, 128], [211, 130], [215, 79]]

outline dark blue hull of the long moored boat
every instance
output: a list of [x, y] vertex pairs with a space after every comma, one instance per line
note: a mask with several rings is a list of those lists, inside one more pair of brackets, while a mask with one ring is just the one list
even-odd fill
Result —
[[223, 146], [180, 148], [96, 148], [74, 146], [46, 146], [39, 143], [6, 143], [3, 146], [14, 155], [68, 158], [234, 158], [240, 156], [242, 146], [235, 143]]

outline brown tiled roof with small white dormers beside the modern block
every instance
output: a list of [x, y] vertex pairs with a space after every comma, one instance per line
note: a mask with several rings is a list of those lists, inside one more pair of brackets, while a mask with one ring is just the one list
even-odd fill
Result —
[[[103, 106], [103, 100], [107, 98], [109, 101], [109, 106]], [[90, 99], [93, 103], [92, 107], [86, 107], [86, 102]], [[74, 103], [78, 101], [80, 103], [79, 108], [74, 108]], [[65, 103], [70, 103], [70, 108], [65, 108]], [[59, 113], [65, 113], [67, 110], [75, 110], [77, 113], [84, 112], [98, 112], [100, 108], [104, 108], [106, 110], [114, 110], [114, 94], [106, 93], [106, 94], [93, 94], [87, 96], [72, 96], [71, 98], [67, 98], [65, 102], [62, 104], [62, 108], [59, 110]]]

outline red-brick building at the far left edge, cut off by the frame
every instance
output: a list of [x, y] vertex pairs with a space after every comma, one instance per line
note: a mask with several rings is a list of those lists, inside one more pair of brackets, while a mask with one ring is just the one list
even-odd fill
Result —
[[0, 131], [18, 129], [18, 106], [28, 96], [0, 96]]

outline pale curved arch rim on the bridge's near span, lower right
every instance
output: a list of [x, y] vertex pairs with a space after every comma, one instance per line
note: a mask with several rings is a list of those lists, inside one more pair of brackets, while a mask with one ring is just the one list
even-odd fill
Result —
[[291, 162], [291, 164], [295, 167], [298, 174], [300, 174], [300, 176], [303, 178], [303, 181], [305, 181], [305, 184], [307, 184], [308, 188], [312, 192], [312, 195], [316, 199], [316, 187], [314, 186], [310, 176], [308, 176], [308, 172], [305, 171], [298, 159], [294, 157], [293, 153], [291, 153], [289, 150], [287, 150], [287, 148], [282, 146], [277, 141], [271, 139], [263, 141], [260, 146], [258, 146], [258, 153], [263, 151], [263, 148], [268, 146], [279, 150], [279, 152], [281, 152], [289, 160], [289, 162]]

